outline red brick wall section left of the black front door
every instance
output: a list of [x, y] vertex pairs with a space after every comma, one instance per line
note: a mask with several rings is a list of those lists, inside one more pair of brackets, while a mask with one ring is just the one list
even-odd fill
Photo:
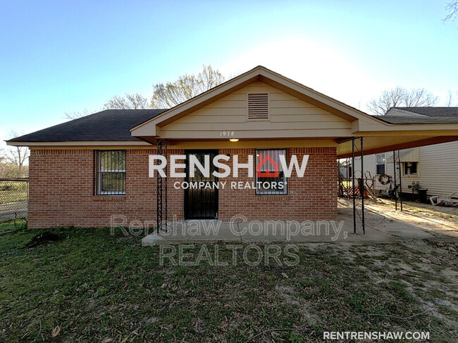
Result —
[[[169, 150], [182, 154], [182, 150]], [[112, 215], [128, 223], [156, 221], [156, 178], [148, 176], [148, 155], [155, 149], [126, 150], [126, 195], [94, 195], [94, 150], [30, 150], [30, 228], [110, 226]], [[182, 219], [182, 190], [169, 181], [168, 212]], [[172, 218], [172, 217], [171, 217]], [[122, 219], [116, 218], [116, 224]], [[147, 223], [147, 226], [150, 224]]]

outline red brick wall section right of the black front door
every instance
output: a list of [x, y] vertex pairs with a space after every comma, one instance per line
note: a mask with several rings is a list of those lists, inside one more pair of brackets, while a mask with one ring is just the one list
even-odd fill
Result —
[[[246, 163], [248, 155], [255, 155], [254, 149], [222, 149], [225, 155], [239, 155], [239, 161]], [[241, 214], [249, 220], [304, 220], [330, 219], [337, 214], [337, 150], [335, 148], [289, 148], [288, 158], [297, 155], [299, 164], [303, 155], [309, 155], [304, 177], [299, 178], [293, 169], [288, 182], [287, 195], [255, 195], [252, 189], [230, 189], [227, 186], [219, 193], [219, 218], [230, 220], [234, 214]], [[228, 164], [230, 164], [231, 160]], [[231, 164], [230, 164], [231, 165]], [[232, 165], [231, 165], [232, 168]], [[239, 178], [225, 178], [224, 181], [248, 179], [247, 169], [241, 169]], [[250, 181], [254, 181], [254, 178]]]

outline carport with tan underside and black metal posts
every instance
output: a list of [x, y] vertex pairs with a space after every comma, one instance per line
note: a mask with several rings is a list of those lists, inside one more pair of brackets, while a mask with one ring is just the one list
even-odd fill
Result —
[[[439, 114], [441, 108], [435, 108]], [[394, 163], [393, 181], [395, 188], [402, 191], [402, 170], [400, 150], [423, 145], [447, 143], [458, 140], [458, 115], [443, 108], [445, 115], [414, 117], [401, 110], [390, 110], [387, 115], [377, 116], [379, 125], [361, 124], [355, 126], [352, 138], [340, 138], [338, 159], [349, 157], [351, 160], [350, 178], [352, 180], [353, 232], [365, 233], [364, 191], [359, 179], [364, 177], [364, 155], [392, 152]], [[364, 123], [364, 122], [363, 122]], [[364, 187], [364, 186], [363, 186]], [[396, 209], [398, 200], [395, 200]], [[400, 200], [402, 210], [402, 200]]]

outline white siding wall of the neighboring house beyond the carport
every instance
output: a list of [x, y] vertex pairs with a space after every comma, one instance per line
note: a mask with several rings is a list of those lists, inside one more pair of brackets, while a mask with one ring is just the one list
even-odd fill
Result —
[[[392, 153], [387, 153], [392, 157]], [[359, 169], [359, 163], [355, 163]], [[376, 176], [376, 155], [364, 156], [364, 170]], [[393, 175], [393, 164], [387, 163], [385, 174]], [[377, 179], [377, 178], [376, 178]], [[458, 192], [458, 141], [419, 147], [417, 175], [402, 175], [402, 191], [410, 192], [407, 186], [419, 181], [421, 188], [428, 188], [428, 195], [449, 195]], [[386, 186], [376, 181], [377, 189]]]

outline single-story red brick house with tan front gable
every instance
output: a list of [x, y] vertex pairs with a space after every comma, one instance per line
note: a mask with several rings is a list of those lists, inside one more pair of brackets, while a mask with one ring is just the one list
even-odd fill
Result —
[[[158, 178], [149, 177], [149, 155], [158, 153], [158, 141], [167, 142], [169, 161], [309, 155], [303, 177], [293, 171], [287, 187], [271, 192], [256, 186], [202, 193], [173, 187], [188, 174], [167, 177], [169, 220], [329, 219], [337, 213], [336, 160], [352, 155], [352, 138], [364, 137], [369, 154], [458, 140], [458, 120], [382, 119], [259, 66], [171, 109], [104, 110], [7, 143], [30, 147], [31, 228], [109, 226], [114, 214], [155, 221]], [[255, 177], [241, 169], [225, 181]], [[284, 173], [277, 178], [286, 181]]]

